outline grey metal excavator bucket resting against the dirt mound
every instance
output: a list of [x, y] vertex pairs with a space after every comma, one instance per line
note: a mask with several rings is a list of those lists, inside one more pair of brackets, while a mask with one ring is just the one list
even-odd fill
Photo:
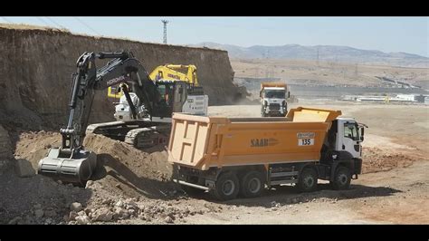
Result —
[[48, 156], [39, 161], [38, 174], [64, 182], [85, 185], [97, 166], [97, 155], [80, 150], [64, 157], [61, 149], [50, 149]]

